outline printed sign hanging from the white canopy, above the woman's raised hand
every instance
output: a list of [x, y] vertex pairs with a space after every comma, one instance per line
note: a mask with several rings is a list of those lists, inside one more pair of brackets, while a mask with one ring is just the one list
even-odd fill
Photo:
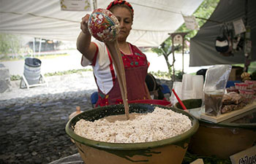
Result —
[[60, 0], [61, 10], [67, 11], [93, 11], [96, 1], [92, 0]]

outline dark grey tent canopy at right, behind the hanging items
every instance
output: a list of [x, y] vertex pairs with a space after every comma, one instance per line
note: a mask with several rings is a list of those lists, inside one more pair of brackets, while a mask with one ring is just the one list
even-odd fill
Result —
[[220, 0], [209, 20], [190, 41], [189, 66], [244, 63], [243, 50], [234, 52], [233, 56], [224, 56], [215, 49], [223, 23], [233, 23], [240, 18], [247, 20], [247, 25], [251, 27], [251, 56], [252, 60], [256, 60], [256, 1], [248, 0], [246, 5], [246, 0]]

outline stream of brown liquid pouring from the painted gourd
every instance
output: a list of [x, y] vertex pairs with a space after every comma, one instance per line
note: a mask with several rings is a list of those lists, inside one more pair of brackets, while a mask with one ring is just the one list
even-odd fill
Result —
[[127, 100], [127, 81], [125, 78], [124, 63], [121, 58], [121, 52], [119, 50], [118, 42], [117, 41], [106, 42], [105, 44], [107, 45], [108, 50], [110, 51], [110, 56], [116, 68], [117, 79], [118, 79], [120, 90], [121, 90], [121, 97], [124, 102], [124, 111], [125, 111], [127, 120], [129, 120], [129, 106], [128, 106], [128, 100]]

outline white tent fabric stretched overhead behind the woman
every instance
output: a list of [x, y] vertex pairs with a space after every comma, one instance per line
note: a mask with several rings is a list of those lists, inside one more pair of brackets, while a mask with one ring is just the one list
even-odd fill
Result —
[[[128, 42], [139, 47], [159, 46], [192, 15], [203, 0], [129, 0], [135, 9]], [[110, 0], [97, 0], [106, 8]], [[62, 11], [59, 0], [0, 0], [0, 31], [43, 39], [75, 42], [80, 20], [91, 12]]]

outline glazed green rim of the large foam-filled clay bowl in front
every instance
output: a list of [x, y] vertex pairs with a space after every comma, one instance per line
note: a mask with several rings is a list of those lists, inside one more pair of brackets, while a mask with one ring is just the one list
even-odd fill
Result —
[[[136, 105], [159, 106], [159, 105], [153, 105], [153, 104], [129, 104], [129, 106], [136, 106]], [[121, 107], [123, 105], [116, 105], [116, 106]], [[110, 106], [108, 106], [108, 108], [109, 107]], [[92, 110], [105, 110], [106, 106], [104, 106], [104, 107], [99, 107], [97, 109], [86, 110], [85, 112], [80, 113], [77, 116], [73, 117], [71, 120], [69, 120], [69, 122], [67, 122], [65, 130], [70, 138], [72, 138], [73, 140], [75, 140], [76, 142], [78, 142], [80, 144], [85, 144], [87, 146], [95, 147], [97, 149], [115, 149], [115, 150], [148, 149], [148, 148], [154, 148], [154, 147], [162, 147], [162, 146], [170, 145], [170, 144], [177, 145], [178, 143], [187, 140], [188, 138], [190, 138], [192, 135], [194, 135], [196, 133], [196, 131], [199, 127], [199, 122], [194, 116], [192, 116], [192, 114], [189, 114], [187, 112], [184, 112], [184, 111], [181, 111], [178, 109], [174, 109], [172, 107], [167, 107], [167, 106], [159, 106], [159, 107], [161, 107], [163, 109], [170, 109], [170, 110], [173, 110], [174, 112], [178, 112], [178, 113], [187, 115], [187, 117], [189, 117], [189, 119], [192, 122], [192, 128], [187, 130], [185, 133], [182, 133], [178, 136], [174, 136], [172, 138], [167, 138], [167, 139], [163, 139], [160, 141], [151, 141], [151, 142], [134, 143], [134, 144], [119, 144], [119, 143], [94, 141], [94, 140], [91, 140], [88, 138], [83, 138], [74, 133], [74, 131], [72, 129], [72, 123], [75, 122], [75, 120], [80, 120], [79, 117], [82, 114], [86, 114], [86, 112], [91, 112]]]

